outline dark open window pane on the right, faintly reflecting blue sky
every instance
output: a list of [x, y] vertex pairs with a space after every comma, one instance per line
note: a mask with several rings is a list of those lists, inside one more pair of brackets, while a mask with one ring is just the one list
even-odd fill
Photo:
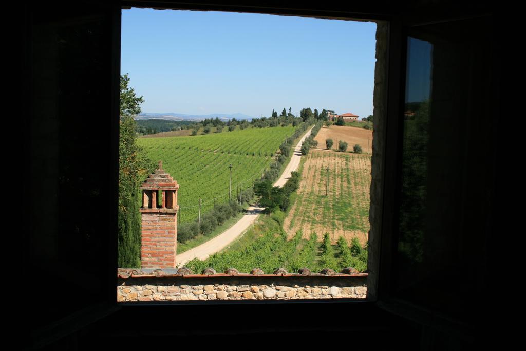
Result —
[[452, 316], [471, 315], [489, 230], [489, 24], [421, 26], [407, 42], [393, 292]]

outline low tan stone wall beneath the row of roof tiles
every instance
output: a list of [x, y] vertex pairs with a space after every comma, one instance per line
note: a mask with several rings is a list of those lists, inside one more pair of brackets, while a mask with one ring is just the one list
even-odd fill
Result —
[[163, 276], [118, 278], [117, 301], [365, 298], [355, 276]]

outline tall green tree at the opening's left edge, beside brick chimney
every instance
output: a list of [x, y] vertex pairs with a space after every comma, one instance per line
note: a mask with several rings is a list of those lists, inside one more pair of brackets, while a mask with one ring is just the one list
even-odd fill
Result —
[[144, 99], [135, 95], [129, 81], [127, 74], [120, 76], [117, 264], [120, 268], [140, 268], [139, 186], [155, 166], [141, 156], [136, 144], [135, 116]]

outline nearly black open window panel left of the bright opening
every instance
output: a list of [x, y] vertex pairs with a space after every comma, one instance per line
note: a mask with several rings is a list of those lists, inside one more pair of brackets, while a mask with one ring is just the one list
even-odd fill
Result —
[[112, 118], [113, 14], [110, 6], [91, 5], [41, 5], [26, 13], [32, 175], [25, 188], [32, 199], [26, 266], [39, 272], [36, 284], [76, 292], [43, 289], [46, 304], [30, 299], [35, 325], [103, 300], [111, 282], [112, 129], [118, 123], [118, 113]]

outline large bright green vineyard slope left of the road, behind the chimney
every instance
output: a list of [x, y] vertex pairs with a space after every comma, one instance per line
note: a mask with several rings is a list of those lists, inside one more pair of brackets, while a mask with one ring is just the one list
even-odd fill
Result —
[[248, 128], [200, 136], [139, 138], [138, 145], [180, 184], [179, 223], [197, 218], [214, 204], [228, 201], [232, 165], [232, 198], [261, 178], [262, 170], [295, 127]]

